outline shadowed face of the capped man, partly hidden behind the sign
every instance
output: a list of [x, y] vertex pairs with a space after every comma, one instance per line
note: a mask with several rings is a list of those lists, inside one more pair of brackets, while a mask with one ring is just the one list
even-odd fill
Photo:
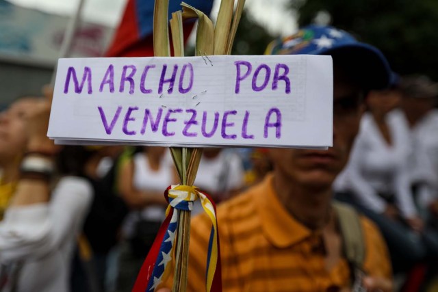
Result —
[[315, 188], [330, 187], [348, 161], [359, 131], [363, 94], [344, 78], [334, 81], [333, 147], [329, 150], [271, 149], [275, 175]]

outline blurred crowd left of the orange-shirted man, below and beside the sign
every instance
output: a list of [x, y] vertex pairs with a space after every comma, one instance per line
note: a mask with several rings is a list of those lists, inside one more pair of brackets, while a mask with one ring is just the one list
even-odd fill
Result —
[[[131, 291], [164, 220], [164, 190], [179, 183], [170, 151], [55, 146], [50, 98], [18, 98], [0, 117], [0, 291]], [[237, 194], [242, 153], [205, 148], [195, 185], [216, 202]]]

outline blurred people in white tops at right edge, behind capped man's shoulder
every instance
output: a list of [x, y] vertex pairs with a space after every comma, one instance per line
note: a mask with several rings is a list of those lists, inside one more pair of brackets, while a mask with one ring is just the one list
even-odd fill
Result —
[[407, 291], [437, 276], [437, 94], [424, 75], [394, 75], [391, 88], [369, 92], [350, 160], [333, 186], [335, 198], [380, 228], [394, 273], [410, 281]]

